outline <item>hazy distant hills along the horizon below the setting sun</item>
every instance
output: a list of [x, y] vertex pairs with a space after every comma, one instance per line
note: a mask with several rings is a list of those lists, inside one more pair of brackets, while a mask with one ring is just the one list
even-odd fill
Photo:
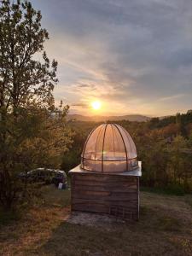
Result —
[[90, 122], [104, 122], [104, 121], [120, 121], [120, 120], [129, 120], [131, 122], [146, 122], [150, 118], [142, 114], [127, 114], [121, 116], [85, 116], [81, 114], [68, 114], [67, 119], [75, 119], [77, 121], [90, 121]]

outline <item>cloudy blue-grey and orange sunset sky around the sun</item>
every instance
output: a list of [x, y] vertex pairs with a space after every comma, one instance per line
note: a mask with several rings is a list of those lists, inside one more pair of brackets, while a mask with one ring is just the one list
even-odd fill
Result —
[[[70, 113], [161, 116], [192, 108], [191, 0], [32, 0]], [[99, 110], [91, 102], [101, 102]]]

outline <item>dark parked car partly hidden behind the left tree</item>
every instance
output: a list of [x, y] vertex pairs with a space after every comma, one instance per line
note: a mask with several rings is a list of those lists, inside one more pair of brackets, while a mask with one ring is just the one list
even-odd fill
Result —
[[54, 183], [56, 187], [59, 183], [67, 184], [66, 172], [55, 169], [37, 168], [26, 173], [20, 172], [19, 177], [32, 183]]

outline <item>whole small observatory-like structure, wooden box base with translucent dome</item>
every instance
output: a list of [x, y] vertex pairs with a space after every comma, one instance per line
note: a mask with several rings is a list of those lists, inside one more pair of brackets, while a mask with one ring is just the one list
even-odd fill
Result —
[[119, 125], [99, 125], [84, 144], [81, 165], [70, 171], [72, 211], [137, 220], [141, 170], [130, 134]]

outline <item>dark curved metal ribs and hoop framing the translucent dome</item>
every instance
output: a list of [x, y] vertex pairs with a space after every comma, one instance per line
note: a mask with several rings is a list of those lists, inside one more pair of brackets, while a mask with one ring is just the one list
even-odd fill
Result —
[[[101, 126], [101, 129], [100, 129], [100, 131], [98, 132], [98, 135], [97, 135], [97, 137], [96, 137], [96, 143], [97, 143], [97, 140], [98, 140], [98, 137], [100, 136], [100, 133], [101, 133], [101, 131], [102, 131], [103, 125], [105, 125], [105, 127], [104, 127], [103, 139], [102, 139], [102, 159], [101, 159], [101, 160], [97, 160], [97, 159], [91, 159], [91, 158], [84, 157], [85, 149], [86, 149], [86, 147], [87, 147], [87, 144], [88, 144], [88, 142], [89, 142], [89, 140], [90, 140], [91, 135], [93, 134], [94, 131], [96, 131], [96, 129], [97, 129], [98, 127]], [[123, 143], [124, 148], [125, 148], [125, 159], [124, 159], [124, 160], [104, 160], [104, 144], [105, 144], [105, 140], [106, 140], [106, 131], [107, 131], [108, 125], [111, 125], [112, 131], [113, 131], [113, 127], [115, 127], [115, 128], [117, 129], [117, 131], [119, 132], [119, 135], [120, 135], [120, 137], [121, 137], [121, 139], [122, 139], [122, 143]], [[108, 123], [108, 124], [99, 125], [99, 126], [95, 127], [92, 131], [90, 131], [90, 134], [89, 134], [89, 136], [87, 137], [87, 139], [86, 139], [86, 141], [85, 141], [85, 143], [84, 143], [83, 152], [82, 152], [82, 154], [81, 154], [81, 168], [82, 168], [82, 169], [87, 170], [87, 171], [90, 171], [90, 170], [84, 168], [84, 160], [91, 160], [91, 161], [94, 160], [94, 161], [98, 161], [98, 162], [99, 162], [99, 161], [102, 161], [102, 171], [97, 171], [97, 170], [95, 170], [95, 172], [106, 172], [106, 171], [104, 171], [104, 163], [105, 163], [105, 162], [121, 162], [121, 161], [123, 162], [123, 161], [125, 161], [126, 168], [125, 168], [125, 171], [122, 171], [122, 172], [129, 172], [129, 171], [133, 171], [133, 170], [135, 170], [135, 169], [138, 168], [137, 148], [136, 148], [136, 146], [135, 146], [135, 148], [134, 148], [134, 150], [136, 151], [136, 157], [134, 157], [134, 158], [129, 158], [129, 157], [128, 157], [128, 150], [127, 150], [126, 144], [125, 144], [125, 139], [124, 139], [124, 137], [123, 137], [122, 132], [120, 131], [120, 129], [122, 129], [122, 131], [125, 132], [125, 135], [126, 135], [126, 137], [128, 138], [128, 141], [129, 141], [129, 143], [130, 143], [130, 147], [131, 147], [131, 143], [133, 143], [134, 146], [135, 146], [135, 143], [133, 142], [133, 140], [132, 140], [132, 138], [131, 138], [131, 135], [130, 135], [129, 132], [126, 131], [125, 128], [123, 128], [122, 126], [117, 125], [117, 124], [113, 124], [113, 123]], [[132, 142], [130, 142], [130, 138], [131, 138], [131, 141], [132, 141]], [[114, 135], [113, 135], [113, 145], [114, 145]], [[134, 163], [135, 163], [134, 165], [132, 165], [132, 161], [133, 161], [133, 160], [134, 160]], [[130, 167], [129, 163], [131, 163], [131, 167]], [[94, 171], [91, 171], [91, 172], [94, 172]]]

